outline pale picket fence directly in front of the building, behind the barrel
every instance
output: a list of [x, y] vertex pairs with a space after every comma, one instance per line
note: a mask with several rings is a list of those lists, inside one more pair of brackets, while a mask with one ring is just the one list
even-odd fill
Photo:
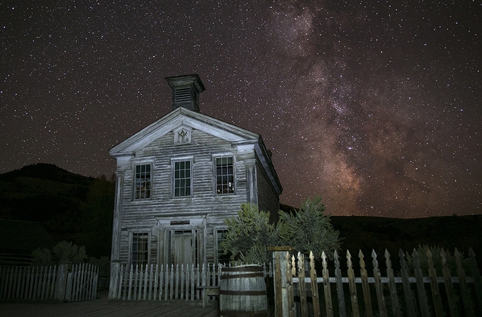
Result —
[[[231, 266], [231, 265], [229, 265]], [[199, 286], [219, 286], [222, 264], [199, 266], [125, 266], [112, 279], [110, 299], [122, 301], [197, 301], [201, 300]], [[264, 276], [273, 276], [273, 265], [264, 266]], [[112, 281], [115, 281], [112, 283]]]

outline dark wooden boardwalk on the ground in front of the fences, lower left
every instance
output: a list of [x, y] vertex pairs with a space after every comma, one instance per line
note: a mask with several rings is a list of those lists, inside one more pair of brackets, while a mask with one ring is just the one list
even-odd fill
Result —
[[0, 316], [9, 317], [73, 317], [73, 316], [115, 316], [115, 317], [216, 317], [218, 307], [202, 308], [193, 302], [169, 303], [108, 301], [107, 292], [98, 293], [95, 301], [70, 303], [0, 303]]

